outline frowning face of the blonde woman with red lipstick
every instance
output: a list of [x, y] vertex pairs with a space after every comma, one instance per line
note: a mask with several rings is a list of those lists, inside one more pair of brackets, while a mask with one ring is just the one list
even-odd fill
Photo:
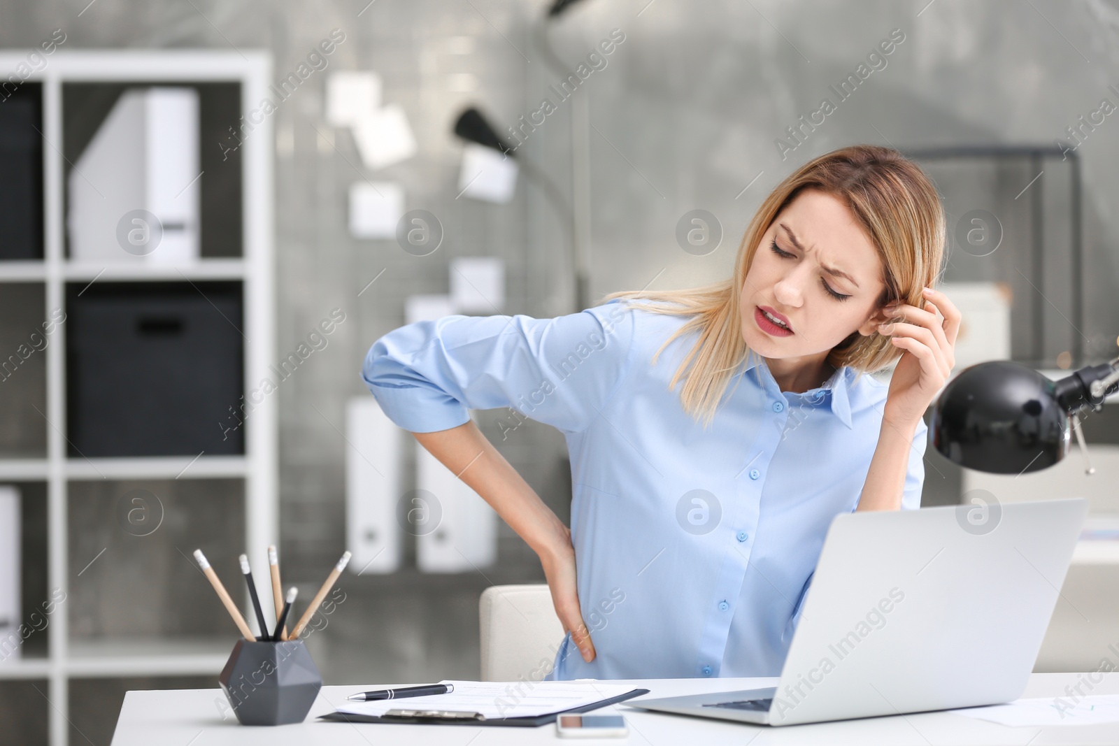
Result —
[[[778, 214], [754, 253], [740, 299], [742, 339], [770, 359], [826, 353], [885, 320], [876, 304], [884, 286], [878, 254], [850, 210], [806, 189]], [[762, 309], [791, 333], [761, 318]]]

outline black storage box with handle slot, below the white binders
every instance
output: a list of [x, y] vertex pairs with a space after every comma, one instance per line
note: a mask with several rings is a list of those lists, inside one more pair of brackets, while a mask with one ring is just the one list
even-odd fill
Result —
[[245, 452], [239, 282], [67, 285], [69, 455]]

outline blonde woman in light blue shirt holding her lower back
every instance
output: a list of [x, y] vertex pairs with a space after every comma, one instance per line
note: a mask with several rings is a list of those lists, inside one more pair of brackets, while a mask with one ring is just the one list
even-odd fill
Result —
[[[830, 520], [920, 506], [960, 325], [931, 289], [943, 244], [915, 164], [845, 148], [773, 190], [725, 282], [410, 324], [363, 376], [539, 556], [567, 631], [552, 678], [778, 676]], [[863, 376], [895, 360], [888, 387]], [[564, 433], [570, 530], [468, 407]]]

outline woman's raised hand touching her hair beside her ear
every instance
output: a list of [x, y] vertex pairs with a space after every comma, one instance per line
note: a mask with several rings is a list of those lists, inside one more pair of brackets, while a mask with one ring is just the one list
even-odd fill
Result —
[[925, 287], [923, 293], [923, 309], [901, 302], [887, 305], [885, 312], [900, 319], [878, 325], [880, 333], [891, 337], [895, 347], [905, 350], [890, 380], [883, 416], [914, 426], [956, 365], [956, 337], [961, 318], [956, 304], [939, 290]]

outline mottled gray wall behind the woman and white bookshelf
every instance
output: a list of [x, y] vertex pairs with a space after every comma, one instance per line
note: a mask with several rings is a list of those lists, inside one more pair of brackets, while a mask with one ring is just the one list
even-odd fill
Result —
[[[420, 154], [380, 172], [363, 169], [350, 134], [326, 124], [322, 74], [274, 115], [278, 351], [294, 349], [330, 309], [347, 313], [329, 348], [280, 391], [282, 551], [285, 565], [303, 573], [292, 579], [309, 583], [344, 545], [346, 445], [336, 429], [342, 428], [344, 404], [365, 391], [358, 377], [363, 356], [378, 336], [403, 322], [403, 299], [446, 292], [450, 257], [496, 255], [508, 263], [508, 312], [570, 310], [562, 225], [535, 187], [519, 187], [507, 206], [455, 199], [460, 145], [450, 129], [461, 107], [480, 104], [504, 131], [535, 111], [548, 84], [557, 82], [532, 39], [542, 4], [366, 1], [97, 0], [83, 11], [83, 0], [43, 0], [0, 11], [3, 47], [28, 46], [62, 27], [66, 49], [263, 48], [274, 57], [278, 79], [331, 29], [341, 28], [347, 38], [330, 69], [379, 72], [384, 100], [407, 112]], [[552, 35], [560, 55], [574, 62], [615, 27], [626, 41], [579, 94], [590, 97], [593, 125], [594, 299], [642, 287], [661, 270], [653, 287], [724, 276], [767, 191], [797, 164], [834, 148], [853, 142], [1052, 144], [1102, 97], [1119, 104], [1119, 95], [1107, 87], [1119, 82], [1119, 9], [1103, 0], [935, 0], [928, 7], [909, 1], [655, 0], [646, 6], [646, 0], [586, 0]], [[895, 28], [905, 40], [888, 65], [783, 160], [774, 140], [822, 97], [835, 101], [828, 86], [854, 72]], [[457, 37], [472, 38], [474, 51], [454, 54], [463, 44]], [[570, 104], [561, 104], [518, 153], [562, 189], [570, 185]], [[1111, 240], [1119, 228], [1112, 207], [1119, 197], [1119, 115], [1108, 116], [1079, 152], [1084, 157], [1085, 274], [1092, 278], [1087, 292], [1093, 308], [1083, 332], [1090, 351], [1101, 357], [1115, 350], [1112, 322], [1119, 317]], [[347, 190], [365, 177], [401, 181], [408, 209], [431, 210], [443, 223], [443, 246], [414, 257], [393, 242], [351, 238]], [[680, 251], [674, 238], [677, 219], [697, 207], [714, 213], [725, 230], [723, 245], [703, 257]], [[953, 217], [969, 207], [953, 206]], [[1047, 251], [1061, 255], [1068, 246], [1057, 240]], [[565, 511], [562, 437], [527, 424], [500, 442], [496, 416], [481, 415], [487, 432], [529, 483]], [[929, 494], [950, 501], [958, 489], [953, 470], [937, 454], [929, 459], [934, 466], [927, 471]], [[419, 579], [414, 570], [348, 577], [352, 603], [337, 614], [333, 635], [317, 635], [316, 655], [328, 682], [477, 676], [477, 594], [491, 580], [542, 577], [527, 547], [502, 530], [500, 567], [486, 578]], [[432, 618], [440, 621], [425, 621]]]

